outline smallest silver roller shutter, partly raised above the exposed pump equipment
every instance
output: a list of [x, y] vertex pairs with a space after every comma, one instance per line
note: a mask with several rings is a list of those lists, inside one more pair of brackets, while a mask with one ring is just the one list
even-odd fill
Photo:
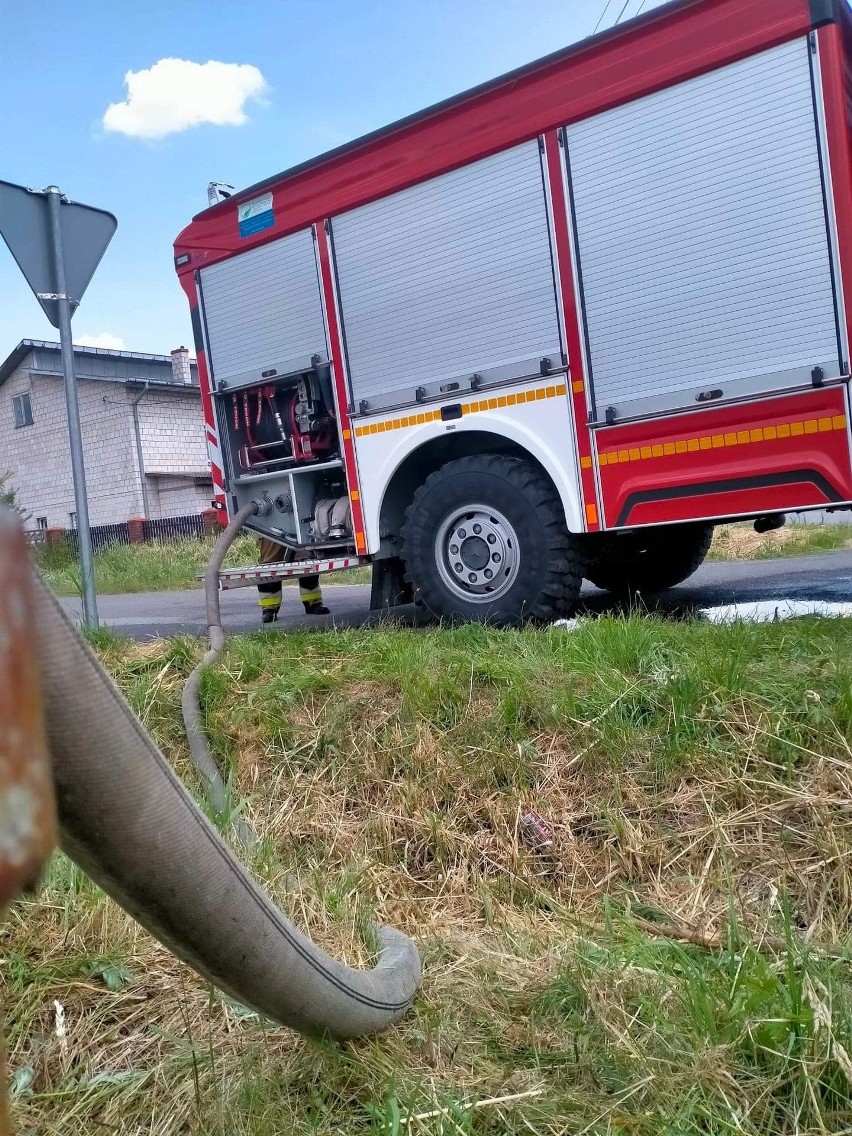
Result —
[[201, 269], [210, 362], [217, 382], [257, 379], [327, 358], [310, 229]]

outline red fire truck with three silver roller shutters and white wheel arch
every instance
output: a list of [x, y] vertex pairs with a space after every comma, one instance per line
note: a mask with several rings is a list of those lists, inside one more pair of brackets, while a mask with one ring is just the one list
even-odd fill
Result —
[[677, 0], [199, 214], [217, 502], [374, 603], [551, 617], [849, 508], [852, 16]]

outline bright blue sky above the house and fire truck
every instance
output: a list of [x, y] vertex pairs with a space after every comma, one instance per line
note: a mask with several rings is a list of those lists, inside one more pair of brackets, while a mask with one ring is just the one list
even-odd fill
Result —
[[[644, 10], [659, 2], [644, 0]], [[112, 245], [74, 317], [75, 339], [164, 353], [191, 346], [172, 242], [204, 207], [208, 181], [250, 185], [583, 39], [604, 3], [7, 2], [0, 5], [0, 178], [53, 183], [118, 217]], [[623, 5], [610, 0], [601, 27]], [[641, 5], [627, 0], [624, 18]], [[164, 59], [243, 67], [217, 74], [157, 68]], [[128, 72], [149, 74], [139, 77], [144, 86], [130, 108], [109, 112], [108, 130], [105, 114], [127, 99]], [[148, 136], [193, 112], [245, 120]], [[20, 339], [56, 339], [2, 244], [0, 295], [0, 359]]]

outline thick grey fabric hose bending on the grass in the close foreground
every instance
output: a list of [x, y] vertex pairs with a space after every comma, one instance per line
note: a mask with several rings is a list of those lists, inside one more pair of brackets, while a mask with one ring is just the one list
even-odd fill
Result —
[[354, 970], [298, 930], [195, 807], [41, 578], [35, 590], [68, 855], [176, 955], [259, 1013], [337, 1039], [396, 1021], [419, 982], [414, 943], [379, 927], [378, 964]]

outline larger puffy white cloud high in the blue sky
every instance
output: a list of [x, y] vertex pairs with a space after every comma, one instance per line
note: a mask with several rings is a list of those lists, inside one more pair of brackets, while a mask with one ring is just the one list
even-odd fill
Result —
[[245, 103], [268, 90], [251, 64], [215, 60], [158, 59], [147, 70], [127, 72], [124, 82], [127, 98], [107, 107], [103, 127], [137, 139], [161, 139], [202, 123], [241, 126]]

